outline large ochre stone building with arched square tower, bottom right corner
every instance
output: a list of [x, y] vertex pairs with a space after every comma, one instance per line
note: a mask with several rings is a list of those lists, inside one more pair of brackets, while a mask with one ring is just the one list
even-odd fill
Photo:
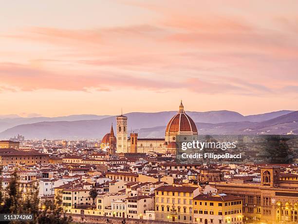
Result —
[[298, 223], [298, 181], [280, 173], [280, 166], [261, 167], [261, 183], [209, 183], [243, 199], [245, 222]]

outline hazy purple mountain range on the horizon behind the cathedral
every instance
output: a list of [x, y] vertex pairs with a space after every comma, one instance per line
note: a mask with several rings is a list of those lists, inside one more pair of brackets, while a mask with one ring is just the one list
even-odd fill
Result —
[[[130, 130], [135, 130], [139, 133], [140, 138], [163, 137], [168, 121], [176, 113], [176, 111], [165, 111], [157, 113], [133, 112], [126, 114], [128, 117], [129, 132]], [[298, 130], [298, 111], [278, 111], [272, 112], [272, 114], [267, 113], [251, 116], [242, 116], [233, 111], [187, 112], [187, 114], [196, 122], [199, 134], [285, 134], [290, 130], [297, 133]], [[274, 117], [279, 114], [284, 115]], [[267, 121], [255, 122], [256, 120], [261, 120], [261, 118], [269, 117], [274, 118]], [[97, 119], [88, 120], [88, 118]], [[29, 121], [33, 122], [34, 119]], [[2, 131], [0, 138], [8, 139], [21, 134], [26, 139], [101, 139], [110, 131], [112, 122], [116, 131], [115, 116], [74, 115], [42, 119], [48, 119], [50, 121], [16, 125]], [[61, 121], [63, 119], [70, 121]], [[74, 119], [81, 120], [72, 121]], [[253, 120], [254, 122], [245, 120]]]

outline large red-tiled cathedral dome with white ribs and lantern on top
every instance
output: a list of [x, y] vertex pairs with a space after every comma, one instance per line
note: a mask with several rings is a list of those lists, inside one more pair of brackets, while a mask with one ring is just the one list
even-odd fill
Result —
[[166, 134], [197, 134], [198, 130], [195, 122], [185, 113], [182, 102], [179, 106], [179, 111], [168, 122]]

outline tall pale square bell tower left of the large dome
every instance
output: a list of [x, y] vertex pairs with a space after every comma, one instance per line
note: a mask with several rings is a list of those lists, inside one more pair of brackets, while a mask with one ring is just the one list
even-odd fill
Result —
[[117, 116], [117, 153], [127, 151], [127, 117]]

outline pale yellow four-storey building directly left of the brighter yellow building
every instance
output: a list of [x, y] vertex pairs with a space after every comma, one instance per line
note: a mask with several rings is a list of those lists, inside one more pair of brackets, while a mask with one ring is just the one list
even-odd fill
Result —
[[160, 186], [155, 189], [155, 220], [192, 223], [193, 197], [198, 187]]

